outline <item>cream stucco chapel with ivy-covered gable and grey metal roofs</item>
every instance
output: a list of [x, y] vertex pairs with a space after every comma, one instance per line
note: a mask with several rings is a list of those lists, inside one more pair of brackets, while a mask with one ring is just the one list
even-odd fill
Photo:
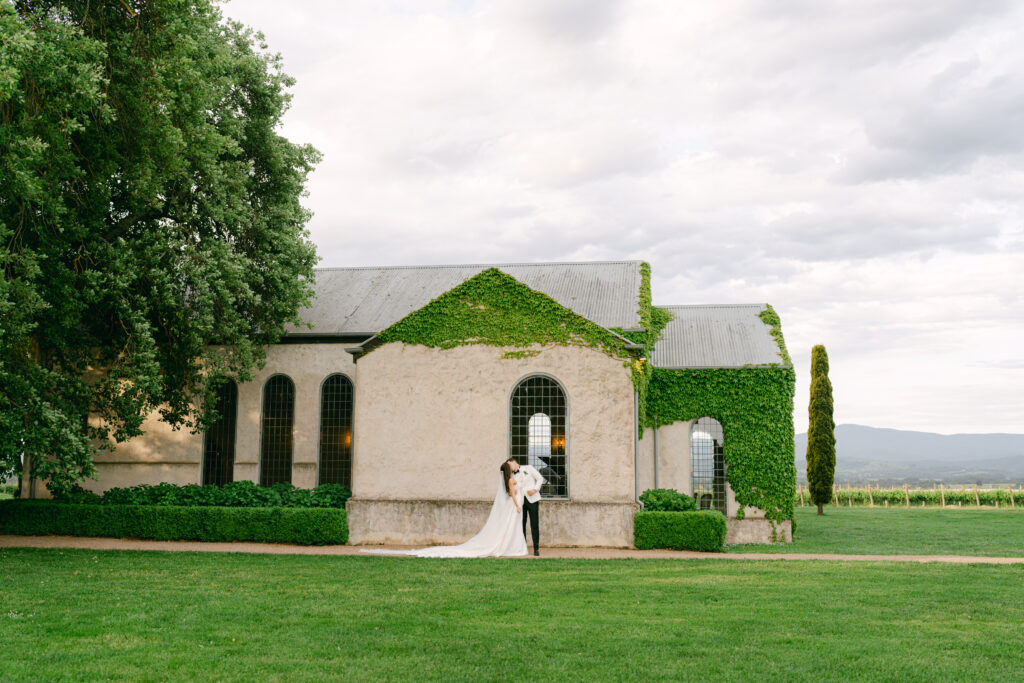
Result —
[[[512, 457], [547, 478], [542, 545], [631, 546], [655, 487], [721, 511], [729, 542], [788, 539], [793, 368], [770, 306], [653, 306], [640, 261], [321, 268], [314, 291], [312, 328], [224, 385], [210, 430], [154, 414], [87, 487], [337, 482], [350, 543], [455, 544]], [[752, 373], [779, 390], [742, 389]], [[716, 394], [729, 378], [741, 408]], [[769, 495], [786, 485], [787, 509]]]

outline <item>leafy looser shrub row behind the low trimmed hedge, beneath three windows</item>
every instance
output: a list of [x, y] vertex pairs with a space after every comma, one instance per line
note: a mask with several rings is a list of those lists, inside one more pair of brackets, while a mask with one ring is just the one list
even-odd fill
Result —
[[252, 481], [232, 481], [222, 486], [208, 484], [139, 484], [108, 488], [93, 494], [77, 486], [61, 497], [61, 503], [87, 505], [211, 505], [229, 508], [343, 508], [352, 492], [337, 483], [316, 488], [296, 488], [290, 483], [260, 486]]

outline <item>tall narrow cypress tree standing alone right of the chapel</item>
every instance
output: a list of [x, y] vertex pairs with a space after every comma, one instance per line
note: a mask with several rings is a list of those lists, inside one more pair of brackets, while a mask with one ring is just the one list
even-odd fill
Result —
[[836, 476], [836, 422], [828, 353], [821, 344], [811, 349], [811, 403], [807, 417], [807, 487], [820, 515], [824, 514], [822, 506], [831, 498]]

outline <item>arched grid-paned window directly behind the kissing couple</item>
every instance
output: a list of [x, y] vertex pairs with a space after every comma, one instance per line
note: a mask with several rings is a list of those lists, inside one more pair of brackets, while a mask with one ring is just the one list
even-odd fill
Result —
[[509, 407], [509, 456], [532, 465], [547, 482], [546, 498], [567, 498], [565, 392], [550, 377], [536, 375], [519, 382]]

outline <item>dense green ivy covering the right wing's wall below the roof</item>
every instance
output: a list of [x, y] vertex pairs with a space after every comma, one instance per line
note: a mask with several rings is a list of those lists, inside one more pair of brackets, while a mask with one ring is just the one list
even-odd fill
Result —
[[725, 432], [726, 478], [736, 502], [772, 521], [793, 519], [795, 388], [792, 368], [654, 368], [643, 421], [657, 427], [715, 418]]

